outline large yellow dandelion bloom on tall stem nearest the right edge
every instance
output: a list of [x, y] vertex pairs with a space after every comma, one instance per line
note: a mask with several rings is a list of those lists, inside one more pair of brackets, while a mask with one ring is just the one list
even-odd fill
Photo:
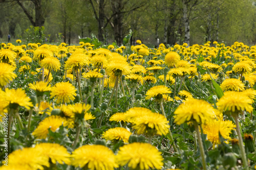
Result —
[[238, 91], [225, 92], [221, 99], [217, 102], [217, 106], [220, 111], [236, 112], [240, 110], [246, 110], [252, 112], [253, 107], [251, 104], [253, 101], [248, 95]]

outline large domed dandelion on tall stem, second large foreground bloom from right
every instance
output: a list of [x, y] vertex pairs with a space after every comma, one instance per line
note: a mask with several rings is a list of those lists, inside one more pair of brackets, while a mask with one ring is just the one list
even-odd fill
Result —
[[174, 112], [175, 123], [181, 125], [185, 122], [196, 121], [205, 123], [215, 115], [214, 108], [204, 100], [189, 99], [182, 103]]

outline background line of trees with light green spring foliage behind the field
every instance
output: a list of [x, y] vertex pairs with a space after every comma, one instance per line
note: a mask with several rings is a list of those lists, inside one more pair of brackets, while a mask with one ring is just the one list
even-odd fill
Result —
[[160, 43], [241, 41], [256, 43], [254, 0], [0, 0], [0, 40], [24, 37], [29, 26], [44, 26], [49, 41], [78, 43], [95, 34], [105, 43], [122, 43], [133, 31], [140, 39]]

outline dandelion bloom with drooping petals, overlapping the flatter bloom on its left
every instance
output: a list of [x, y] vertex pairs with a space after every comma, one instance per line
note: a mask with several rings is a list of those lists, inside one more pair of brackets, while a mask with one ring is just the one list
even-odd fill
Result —
[[136, 118], [133, 122], [133, 129], [137, 134], [148, 134], [150, 136], [166, 135], [169, 132], [169, 125], [166, 117], [159, 113], [147, 112]]

